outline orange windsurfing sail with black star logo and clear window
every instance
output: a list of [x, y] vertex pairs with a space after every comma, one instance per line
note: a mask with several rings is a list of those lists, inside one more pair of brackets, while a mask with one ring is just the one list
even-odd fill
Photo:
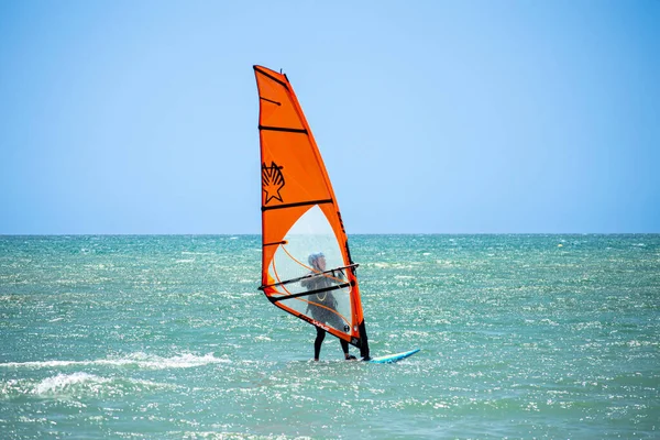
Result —
[[358, 264], [319, 148], [287, 76], [262, 66], [254, 66], [254, 74], [262, 163], [260, 289], [275, 306], [369, 358]]

